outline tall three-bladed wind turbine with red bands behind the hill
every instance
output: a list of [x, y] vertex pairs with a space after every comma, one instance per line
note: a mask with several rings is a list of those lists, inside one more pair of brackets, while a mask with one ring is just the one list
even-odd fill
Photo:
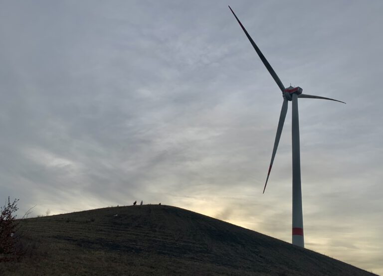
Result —
[[250, 40], [251, 45], [253, 45], [255, 51], [258, 56], [261, 58], [263, 64], [266, 66], [267, 70], [273, 77], [274, 81], [277, 83], [279, 89], [282, 91], [283, 103], [281, 109], [281, 115], [279, 117], [277, 134], [275, 136], [273, 153], [271, 155], [271, 161], [269, 170], [267, 172], [266, 183], [263, 188], [263, 193], [265, 192], [267, 180], [270, 176], [271, 167], [274, 162], [275, 153], [277, 152], [279, 139], [281, 138], [281, 133], [283, 129], [283, 124], [285, 122], [287, 106], [288, 102], [292, 102], [292, 151], [293, 151], [293, 231], [292, 231], [292, 244], [300, 247], [305, 247], [304, 236], [303, 236], [303, 214], [302, 214], [302, 189], [301, 189], [301, 160], [300, 160], [300, 149], [299, 149], [299, 116], [298, 116], [298, 98], [309, 98], [309, 99], [323, 99], [323, 100], [331, 100], [340, 103], [338, 100], [302, 94], [302, 88], [300, 87], [290, 87], [285, 88], [278, 78], [277, 74], [271, 67], [270, 63], [266, 60], [265, 56], [262, 54], [261, 50], [259, 50], [258, 46], [255, 44], [254, 40], [250, 37], [249, 33], [246, 31], [245, 27], [239, 21], [238, 17], [235, 15], [234, 11], [229, 6], [231, 12], [234, 14], [237, 19], [239, 25], [242, 30], [245, 32], [247, 38]]

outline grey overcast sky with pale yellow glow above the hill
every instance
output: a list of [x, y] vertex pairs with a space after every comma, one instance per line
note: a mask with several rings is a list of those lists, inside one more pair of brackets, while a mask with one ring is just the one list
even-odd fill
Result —
[[33, 215], [186, 208], [291, 242], [299, 100], [306, 248], [383, 274], [383, 1], [0, 0], [0, 195]]

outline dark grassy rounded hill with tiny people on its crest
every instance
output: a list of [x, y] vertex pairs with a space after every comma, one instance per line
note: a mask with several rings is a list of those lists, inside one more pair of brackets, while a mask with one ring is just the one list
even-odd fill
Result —
[[20, 224], [31, 256], [0, 264], [0, 275], [373, 275], [166, 205], [103, 208]]

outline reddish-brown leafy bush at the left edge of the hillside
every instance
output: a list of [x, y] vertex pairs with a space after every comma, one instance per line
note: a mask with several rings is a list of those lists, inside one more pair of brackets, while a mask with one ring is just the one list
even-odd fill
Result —
[[18, 199], [11, 203], [9, 200], [3, 207], [0, 207], [0, 262], [6, 262], [18, 259], [21, 256], [19, 248], [16, 246], [19, 241], [19, 235], [16, 233], [17, 224], [14, 214], [17, 208]]

